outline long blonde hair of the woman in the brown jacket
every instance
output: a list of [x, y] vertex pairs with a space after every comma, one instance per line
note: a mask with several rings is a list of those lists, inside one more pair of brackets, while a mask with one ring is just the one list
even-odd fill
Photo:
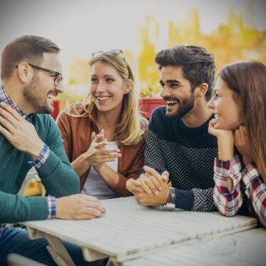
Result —
[[[96, 62], [108, 63], [118, 71], [121, 78], [130, 86], [130, 91], [123, 96], [121, 121], [116, 128], [116, 140], [123, 145], [135, 145], [144, 134], [145, 119], [138, 108], [139, 97], [135, 91], [135, 79], [131, 66], [128, 64], [123, 51], [120, 53], [112, 53], [112, 51], [115, 50], [93, 54], [89, 65], [93, 66]], [[83, 101], [85, 113], [81, 116], [87, 116], [93, 106], [95, 103], [90, 91]]]

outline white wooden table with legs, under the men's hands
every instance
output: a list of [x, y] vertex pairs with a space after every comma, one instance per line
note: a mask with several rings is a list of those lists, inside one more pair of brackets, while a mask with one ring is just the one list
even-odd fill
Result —
[[41, 220], [24, 224], [31, 239], [47, 237], [48, 250], [61, 265], [73, 262], [58, 237], [80, 245], [85, 260], [111, 257], [116, 265], [175, 243], [208, 235], [227, 235], [257, 226], [256, 219], [245, 216], [225, 218], [219, 213], [145, 208], [138, 205], [134, 197], [102, 200], [102, 203], [107, 210], [102, 218]]

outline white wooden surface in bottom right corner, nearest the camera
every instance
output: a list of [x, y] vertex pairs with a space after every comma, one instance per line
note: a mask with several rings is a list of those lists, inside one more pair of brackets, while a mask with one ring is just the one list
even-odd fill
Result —
[[257, 228], [223, 237], [205, 237], [183, 245], [164, 247], [159, 252], [129, 260], [123, 266], [265, 266], [266, 230]]

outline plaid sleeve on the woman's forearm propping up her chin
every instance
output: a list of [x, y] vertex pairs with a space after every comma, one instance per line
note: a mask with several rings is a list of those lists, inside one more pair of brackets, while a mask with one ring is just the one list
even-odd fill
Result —
[[[227, 178], [232, 179], [232, 191], [227, 188]], [[242, 205], [241, 178], [241, 163], [237, 155], [227, 161], [215, 158], [213, 199], [222, 215], [233, 216], [240, 209]]]

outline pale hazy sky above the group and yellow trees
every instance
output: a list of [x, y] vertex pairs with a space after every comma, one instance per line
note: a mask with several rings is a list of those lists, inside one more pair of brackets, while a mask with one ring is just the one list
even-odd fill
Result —
[[245, 15], [250, 3], [253, 24], [266, 30], [263, 0], [1, 0], [0, 51], [16, 37], [44, 36], [61, 48], [64, 70], [72, 58], [89, 59], [95, 51], [138, 51], [147, 14], [159, 22], [160, 46], [167, 46], [168, 19], [182, 21], [189, 10], [198, 9], [200, 28], [210, 34], [227, 21], [231, 8]]

